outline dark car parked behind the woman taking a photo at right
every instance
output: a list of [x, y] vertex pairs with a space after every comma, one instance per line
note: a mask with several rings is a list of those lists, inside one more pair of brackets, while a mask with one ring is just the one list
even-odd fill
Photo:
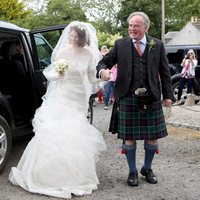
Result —
[[[200, 45], [171, 45], [165, 46], [167, 58], [170, 67], [171, 79], [172, 79], [172, 88], [174, 94], [174, 101], [177, 99], [178, 94], [178, 85], [181, 78], [181, 62], [187, 51], [193, 49], [195, 51], [198, 64], [195, 69], [195, 85], [194, 85], [194, 94], [196, 95], [196, 101], [200, 100]], [[183, 90], [182, 100], [184, 101], [187, 98], [187, 89]]]

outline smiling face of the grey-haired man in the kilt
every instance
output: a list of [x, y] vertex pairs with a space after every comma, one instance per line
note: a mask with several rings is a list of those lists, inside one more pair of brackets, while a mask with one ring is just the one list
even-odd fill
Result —
[[132, 39], [141, 40], [148, 31], [142, 16], [135, 15], [129, 21], [128, 33]]

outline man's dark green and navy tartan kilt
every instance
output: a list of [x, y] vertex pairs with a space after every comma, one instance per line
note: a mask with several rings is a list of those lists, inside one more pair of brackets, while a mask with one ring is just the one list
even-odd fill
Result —
[[156, 140], [168, 135], [161, 101], [128, 94], [113, 104], [109, 132], [122, 140]]

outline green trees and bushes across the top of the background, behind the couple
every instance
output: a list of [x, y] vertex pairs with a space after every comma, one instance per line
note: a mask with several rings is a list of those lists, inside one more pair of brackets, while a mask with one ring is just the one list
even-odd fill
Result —
[[[25, 10], [25, 3], [42, 5], [40, 9]], [[149, 34], [161, 37], [161, 0], [0, 0], [0, 19], [21, 27], [37, 29], [68, 24], [74, 20], [93, 23], [100, 32], [99, 46], [112, 46], [112, 35], [127, 36], [128, 16], [134, 11], [145, 12], [151, 21]], [[165, 0], [165, 32], [177, 31], [200, 16], [199, 0]], [[54, 44], [58, 33], [47, 35]], [[117, 36], [118, 37], [118, 36]]]

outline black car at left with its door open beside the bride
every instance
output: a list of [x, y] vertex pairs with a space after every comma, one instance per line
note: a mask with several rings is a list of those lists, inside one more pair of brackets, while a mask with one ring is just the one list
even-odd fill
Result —
[[[53, 48], [42, 34], [61, 33], [65, 26], [30, 31], [0, 21], [0, 173], [8, 162], [13, 136], [32, 132], [32, 118], [46, 91], [43, 70], [51, 62]], [[92, 109], [89, 102], [90, 123]]]

